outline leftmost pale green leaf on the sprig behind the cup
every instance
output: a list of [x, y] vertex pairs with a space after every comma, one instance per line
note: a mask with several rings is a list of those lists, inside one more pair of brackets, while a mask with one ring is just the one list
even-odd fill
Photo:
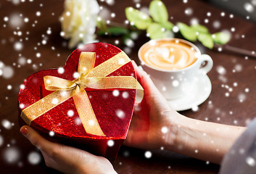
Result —
[[133, 7], [125, 8], [125, 15], [140, 30], [145, 30], [152, 23], [152, 19], [146, 13], [133, 9]]

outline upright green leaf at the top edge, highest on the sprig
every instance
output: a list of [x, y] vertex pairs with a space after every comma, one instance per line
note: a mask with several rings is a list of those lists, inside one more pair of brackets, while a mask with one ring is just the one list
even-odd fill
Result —
[[165, 4], [160, 0], [151, 1], [149, 4], [149, 14], [155, 22], [165, 23], [168, 22], [168, 12]]

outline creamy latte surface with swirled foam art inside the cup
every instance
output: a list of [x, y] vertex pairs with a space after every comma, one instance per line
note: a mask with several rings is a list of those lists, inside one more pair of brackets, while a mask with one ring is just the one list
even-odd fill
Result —
[[186, 43], [173, 41], [154, 41], [141, 49], [143, 61], [160, 70], [180, 70], [192, 65], [197, 58], [196, 51]]

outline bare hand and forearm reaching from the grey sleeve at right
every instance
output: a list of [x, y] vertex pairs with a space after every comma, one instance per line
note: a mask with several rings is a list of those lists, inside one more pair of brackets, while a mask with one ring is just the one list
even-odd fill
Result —
[[[133, 62], [144, 99], [137, 104], [125, 145], [160, 149], [220, 163], [245, 128], [195, 120], [178, 114], [160, 94], [154, 83]], [[207, 116], [207, 115], [205, 115]]]

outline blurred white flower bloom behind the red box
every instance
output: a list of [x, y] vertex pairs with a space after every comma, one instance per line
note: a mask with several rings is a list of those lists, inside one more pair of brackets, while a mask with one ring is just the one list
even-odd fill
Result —
[[62, 33], [70, 38], [68, 46], [94, 42], [99, 4], [96, 0], [65, 0], [65, 11], [62, 13]]

